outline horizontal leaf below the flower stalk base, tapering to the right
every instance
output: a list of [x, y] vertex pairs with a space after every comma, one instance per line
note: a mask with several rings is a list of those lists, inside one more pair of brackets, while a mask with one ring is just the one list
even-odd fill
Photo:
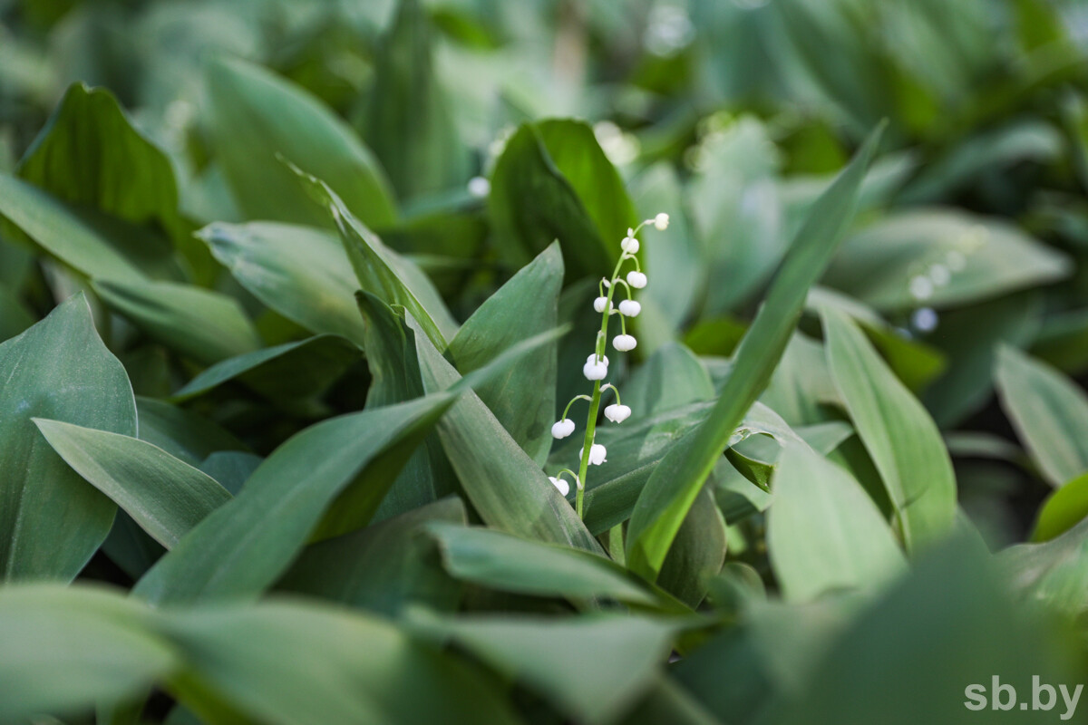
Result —
[[576, 601], [604, 597], [648, 607], [659, 603], [621, 566], [588, 551], [481, 527], [432, 524], [428, 532], [438, 541], [446, 570], [482, 587]]

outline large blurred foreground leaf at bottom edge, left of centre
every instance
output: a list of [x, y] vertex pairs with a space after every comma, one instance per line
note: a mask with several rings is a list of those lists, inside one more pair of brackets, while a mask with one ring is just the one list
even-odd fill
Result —
[[378, 617], [274, 602], [182, 611], [163, 628], [187, 664], [171, 689], [207, 722], [223, 722], [222, 702], [272, 725], [519, 722], [490, 678]]

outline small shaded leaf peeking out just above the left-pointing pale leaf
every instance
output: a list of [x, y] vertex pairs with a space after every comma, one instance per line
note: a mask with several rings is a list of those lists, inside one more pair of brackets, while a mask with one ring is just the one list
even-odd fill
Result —
[[163, 400], [136, 398], [139, 439], [153, 443], [189, 465], [200, 463], [215, 451], [240, 451], [246, 446], [208, 418]]

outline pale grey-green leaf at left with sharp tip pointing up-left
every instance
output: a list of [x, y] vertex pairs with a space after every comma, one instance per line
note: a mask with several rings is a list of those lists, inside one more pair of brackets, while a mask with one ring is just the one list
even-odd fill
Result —
[[59, 421], [34, 422], [73, 471], [166, 549], [231, 500], [213, 478], [138, 438]]

